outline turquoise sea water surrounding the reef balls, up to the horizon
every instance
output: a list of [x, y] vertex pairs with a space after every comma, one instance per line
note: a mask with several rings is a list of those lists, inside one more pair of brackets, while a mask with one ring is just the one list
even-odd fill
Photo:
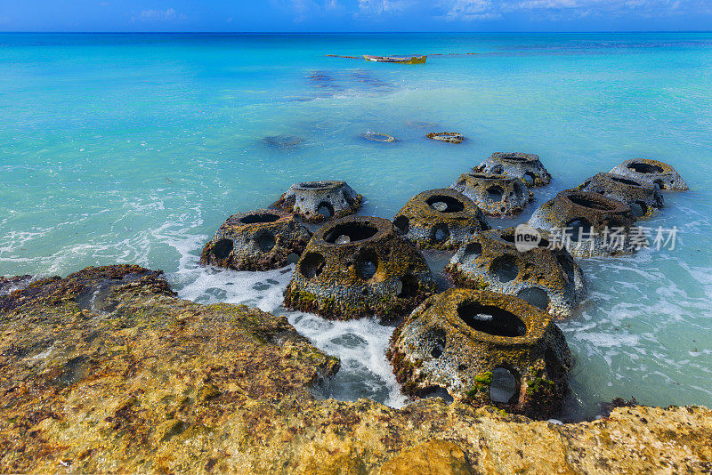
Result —
[[[410, 52], [431, 56], [325, 56]], [[166, 270], [184, 298], [280, 312], [288, 269], [197, 260], [228, 215], [295, 181], [348, 181], [362, 213], [391, 218], [493, 151], [537, 153], [554, 181], [501, 226], [624, 159], [658, 158], [692, 189], [645, 223], [676, 226], [676, 248], [581, 262], [591, 294], [561, 325], [577, 357], [567, 410], [595, 415], [618, 396], [710, 407], [710, 85], [708, 33], [0, 35], [0, 275], [135, 262]], [[432, 130], [469, 140], [426, 141]], [[283, 136], [301, 143], [265, 140]], [[437, 270], [448, 256], [428, 257]], [[288, 316], [342, 358], [326, 394], [406, 402], [383, 356], [391, 328]]]

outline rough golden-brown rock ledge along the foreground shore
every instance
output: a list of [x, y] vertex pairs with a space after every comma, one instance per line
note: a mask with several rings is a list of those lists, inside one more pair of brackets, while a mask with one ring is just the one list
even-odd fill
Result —
[[175, 298], [137, 266], [0, 295], [0, 471], [708, 472], [712, 411], [563, 426], [423, 399], [317, 399], [338, 361], [286, 318]]

